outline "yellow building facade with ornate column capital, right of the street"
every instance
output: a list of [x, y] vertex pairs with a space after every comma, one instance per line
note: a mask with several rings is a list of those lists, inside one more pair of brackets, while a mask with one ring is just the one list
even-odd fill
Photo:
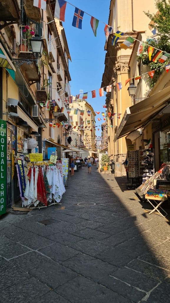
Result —
[[[105, 68], [102, 77], [101, 87], [106, 90], [107, 85], [112, 85], [111, 92], [106, 94], [107, 112], [116, 114], [114, 119], [107, 117], [108, 130], [108, 155], [110, 160], [115, 162], [115, 175], [126, 175], [122, 163], [126, 159], [127, 144], [124, 137], [114, 142], [117, 129], [121, 123], [123, 113], [128, 106], [132, 105], [133, 100], [127, 92], [125, 81], [130, 78], [129, 60], [133, 49], [133, 44], [126, 50], [121, 44], [128, 36], [136, 38], [137, 33], [145, 31], [146, 37], [152, 35], [148, 27], [149, 19], [143, 11], [155, 12], [154, 1], [149, 3], [145, 0], [142, 6], [139, 6], [133, 0], [111, 0], [108, 25], [113, 27], [113, 33], [108, 37], [108, 42], [105, 43]], [[128, 15], [128, 18], [127, 18]], [[126, 33], [117, 41], [116, 45], [112, 45], [114, 33], [119, 30]], [[138, 66], [140, 72], [140, 66]], [[118, 90], [116, 83], [121, 82], [123, 87]], [[118, 169], [117, 169], [118, 168]]]

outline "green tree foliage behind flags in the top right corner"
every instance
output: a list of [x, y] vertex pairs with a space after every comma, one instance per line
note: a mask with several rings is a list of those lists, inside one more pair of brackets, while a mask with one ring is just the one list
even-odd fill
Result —
[[[150, 70], [155, 69], [153, 78], [148, 78], [151, 88], [156, 83], [159, 75], [165, 70], [165, 65], [170, 61], [170, 57], [164, 63], [149, 61], [147, 52], [148, 45], [170, 54], [170, 0], [155, 0], [155, 6], [158, 10], [156, 14], [150, 13], [149, 11], [144, 13], [152, 21], [149, 25], [152, 28], [155, 28], [158, 34], [156, 35], [156, 38], [147, 40], [147, 45], [145, 46], [142, 57], [137, 56], [137, 61], [141, 61], [144, 65], [148, 65]], [[153, 55], [156, 51], [157, 50], [154, 49]]]

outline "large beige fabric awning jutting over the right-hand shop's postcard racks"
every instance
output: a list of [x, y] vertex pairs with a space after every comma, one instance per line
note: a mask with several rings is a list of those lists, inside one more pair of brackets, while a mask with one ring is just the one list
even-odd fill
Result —
[[[168, 102], [166, 102], [167, 100]], [[114, 142], [152, 121], [169, 102], [170, 89], [167, 87], [143, 101], [128, 107], [117, 129]]]

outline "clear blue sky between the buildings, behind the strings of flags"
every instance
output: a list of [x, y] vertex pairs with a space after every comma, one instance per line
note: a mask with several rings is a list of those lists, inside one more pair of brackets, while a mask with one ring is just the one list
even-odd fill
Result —
[[[98, 20], [108, 23], [110, 0], [69, 0], [69, 2]], [[83, 16], [82, 30], [72, 26], [74, 11], [75, 8], [67, 3], [63, 27], [72, 58], [72, 62], [69, 63], [72, 79], [71, 94], [77, 95], [80, 89], [87, 92], [101, 87], [106, 51], [104, 51], [104, 24], [99, 22], [97, 37], [95, 37], [90, 25], [91, 17], [87, 14]], [[99, 97], [99, 92], [96, 91], [96, 98], [93, 99], [89, 92], [87, 102], [92, 105], [94, 111], [105, 112], [102, 107], [105, 104], [105, 92], [104, 97]], [[98, 117], [102, 120], [98, 121]], [[103, 122], [101, 113], [96, 115], [96, 125], [101, 125]], [[99, 127], [100, 131], [97, 128], [96, 135], [99, 136], [101, 127]]]

